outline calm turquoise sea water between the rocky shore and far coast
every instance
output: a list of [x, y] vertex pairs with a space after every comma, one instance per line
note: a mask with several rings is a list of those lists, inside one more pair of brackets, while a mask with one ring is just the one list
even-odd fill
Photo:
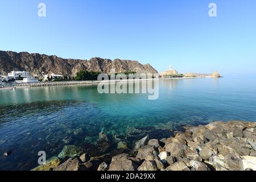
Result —
[[160, 139], [185, 124], [256, 121], [256, 78], [162, 80], [158, 100], [147, 98], [99, 94], [97, 85], [0, 90], [0, 169], [32, 169], [38, 151], [56, 156], [66, 137], [92, 150], [104, 131], [109, 152], [119, 140], [131, 143], [145, 133]]

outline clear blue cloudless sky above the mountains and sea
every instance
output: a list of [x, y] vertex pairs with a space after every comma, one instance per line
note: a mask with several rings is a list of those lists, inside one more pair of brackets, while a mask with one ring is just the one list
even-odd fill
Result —
[[[47, 6], [39, 18], [38, 3]], [[208, 16], [210, 2], [217, 17]], [[0, 0], [0, 49], [256, 75], [255, 0]]]

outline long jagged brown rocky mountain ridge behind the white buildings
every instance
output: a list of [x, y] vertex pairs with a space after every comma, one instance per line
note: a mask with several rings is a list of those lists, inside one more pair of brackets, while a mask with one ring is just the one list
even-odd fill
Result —
[[150, 64], [138, 61], [101, 59], [94, 57], [90, 60], [63, 59], [57, 56], [40, 55], [39, 53], [0, 51], [0, 73], [11, 71], [28, 71], [31, 75], [43, 76], [48, 73], [75, 76], [82, 69], [109, 73], [134, 71], [137, 73], [158, 73]]

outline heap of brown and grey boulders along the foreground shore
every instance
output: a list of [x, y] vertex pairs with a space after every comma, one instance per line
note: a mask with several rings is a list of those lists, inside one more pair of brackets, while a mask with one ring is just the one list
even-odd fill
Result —
[[80, 147], [65, 146], [58, 156], [33, 170], [255, 171], [256, 122], [184, 126], [183, 132], [175, 131], [172, 137], [160, 140], [145, 135], [132, 150], [119, 154], [90, 156]]

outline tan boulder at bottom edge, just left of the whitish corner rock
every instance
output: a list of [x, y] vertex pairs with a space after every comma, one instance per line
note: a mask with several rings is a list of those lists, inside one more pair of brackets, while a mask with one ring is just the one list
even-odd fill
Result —
[[230, 171], [242, 171], [243, 170], [242, 160], [234, 154], [228, 154], [225, 156], [224, 166], [225, 166], [225, 168], [229, 169]]

